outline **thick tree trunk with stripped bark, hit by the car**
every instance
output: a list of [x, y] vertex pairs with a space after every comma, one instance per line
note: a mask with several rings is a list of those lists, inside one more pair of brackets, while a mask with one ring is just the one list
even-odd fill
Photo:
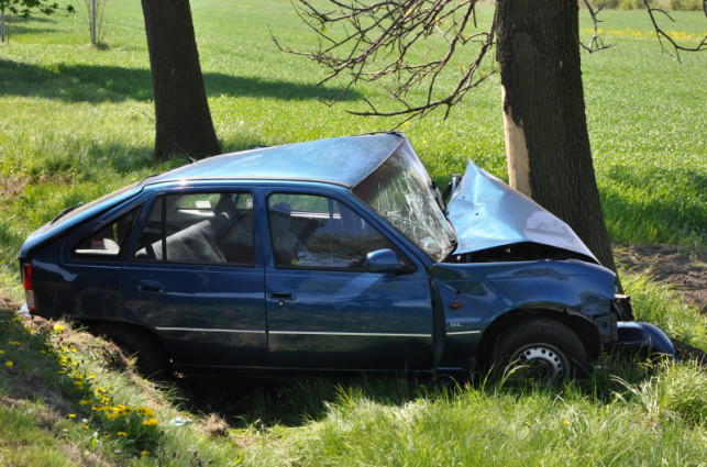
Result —
[[497, 0], [496, 14], [511, 186], [616, 270], [592, 165], [577, 1]]

